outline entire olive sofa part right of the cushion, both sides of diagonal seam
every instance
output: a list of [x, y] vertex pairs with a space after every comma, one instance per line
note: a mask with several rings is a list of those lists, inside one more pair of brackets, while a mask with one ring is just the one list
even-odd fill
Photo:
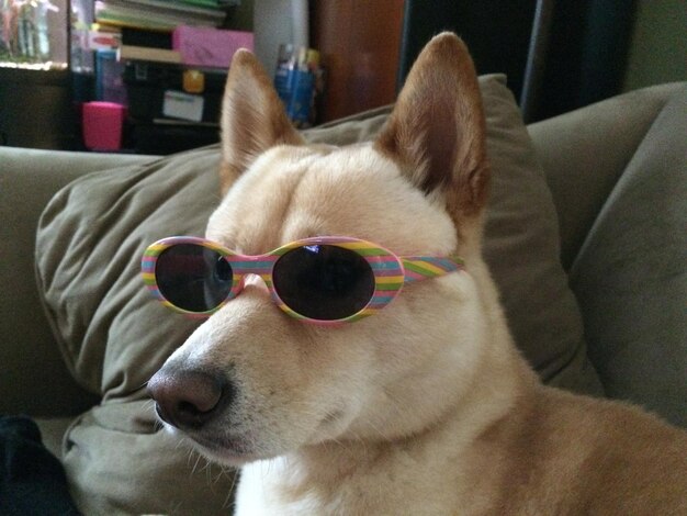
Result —
[[687, 427], [687, 83], [529, 131], [606, 394]]

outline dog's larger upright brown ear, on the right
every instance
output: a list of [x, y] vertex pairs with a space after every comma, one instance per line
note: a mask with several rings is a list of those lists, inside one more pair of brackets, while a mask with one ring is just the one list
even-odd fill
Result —
[[375, 146], [426, 193], [441, 190], [457, 218], [486, 202], [485, 121], [475, 68], [452, 33], [433, 37], [410, 69]]

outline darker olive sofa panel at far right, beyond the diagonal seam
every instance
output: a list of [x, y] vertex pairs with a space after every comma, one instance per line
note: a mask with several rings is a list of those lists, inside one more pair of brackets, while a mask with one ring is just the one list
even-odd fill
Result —
[[[687, 427], [687, 87], [665, 103], [571, 268], [606, 393]], [[640, 207], [641, 206], [641, 207]]]

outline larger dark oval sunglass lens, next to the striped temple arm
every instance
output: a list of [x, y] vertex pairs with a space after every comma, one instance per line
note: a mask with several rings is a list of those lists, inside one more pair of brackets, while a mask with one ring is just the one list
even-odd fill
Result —
[[291, 310], [319, 321], [360, 312], [372, 299], [374, 274], [356, 253], [337, 246], [304, 246], [274, 265], [274, 290]]

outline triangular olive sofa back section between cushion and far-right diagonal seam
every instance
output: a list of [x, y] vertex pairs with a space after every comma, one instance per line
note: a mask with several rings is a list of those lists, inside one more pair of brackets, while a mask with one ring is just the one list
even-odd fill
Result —
[[559, 214], [566, 271], [654, 120], [684, 88], [644, 88], [528, 126]]

